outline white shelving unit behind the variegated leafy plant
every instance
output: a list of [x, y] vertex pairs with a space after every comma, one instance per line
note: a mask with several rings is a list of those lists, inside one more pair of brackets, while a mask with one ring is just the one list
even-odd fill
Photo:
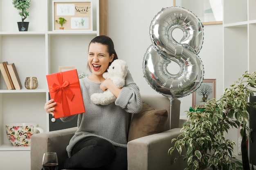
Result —
[[[228, 88], [245, 71], [252, 73], [256, 70], [256, 1], [224, 0], [223, 3], [224, 88]], [[226, 139], [236, 143], [233, 154], [238, 160], [242, 160], [242, 157], [237, 155], [238, 135], [236, 128], [231, 128], [225, 133]]]

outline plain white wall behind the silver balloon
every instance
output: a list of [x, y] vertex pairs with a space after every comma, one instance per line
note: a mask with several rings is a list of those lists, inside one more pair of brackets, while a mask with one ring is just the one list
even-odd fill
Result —
[[[109, 36], [115, 43], [119, 59], [126, 60], [141, 94], [159, 94], [146, 82], [142, 61], [150, 46], [149, 26], [154, 16], [172, 0], [108, 0]], [[193, 11], [192, 11], [193, 12]], [[204, 78], [216, 79], [216, 98], [223, 94], [222, 24], [204, 26], [204, 42], [199, 57], [204, 65]], [[192, 106], [192, 94], [180, 98], [181, 118]]]

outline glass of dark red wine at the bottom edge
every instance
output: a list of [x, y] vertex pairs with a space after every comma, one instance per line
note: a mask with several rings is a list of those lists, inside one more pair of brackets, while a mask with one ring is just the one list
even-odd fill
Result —
[[56, 152], [47, 152], [43, 155], [43, 170], [58, 170], [58, 158]]

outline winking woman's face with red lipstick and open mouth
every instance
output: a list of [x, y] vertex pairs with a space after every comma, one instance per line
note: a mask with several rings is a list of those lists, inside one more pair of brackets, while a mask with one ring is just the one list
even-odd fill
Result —
[[108, 68], [108, 64], [112, 62], [114, 54], [109, 56], [106, 45], [100, 43], [91, 43], [88, 51], [88, 64], [94, 75], [101, 75]]

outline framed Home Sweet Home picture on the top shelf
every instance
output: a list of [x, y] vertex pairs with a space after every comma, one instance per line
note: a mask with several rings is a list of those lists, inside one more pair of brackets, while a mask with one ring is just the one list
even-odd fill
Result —
[[[67, 20], [60, 29], [56, 22], [58, 18]], [[92, 1], [91, 0], [53, 0], [52, 30], [88, 30], [92, 31]]]

